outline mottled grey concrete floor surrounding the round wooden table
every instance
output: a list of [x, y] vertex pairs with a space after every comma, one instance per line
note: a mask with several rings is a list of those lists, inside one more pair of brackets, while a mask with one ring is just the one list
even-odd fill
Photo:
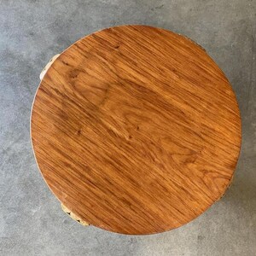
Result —
[[[0, 0], [1, 255], [256, 255], [255, 0]], [[242, 148], [230, 190], [201, 217], [154, 236], [84, 228], [38, 172], [30, 111], [50, 57], [108, 26], [160, 26], [201, 44], [230, 79]]]

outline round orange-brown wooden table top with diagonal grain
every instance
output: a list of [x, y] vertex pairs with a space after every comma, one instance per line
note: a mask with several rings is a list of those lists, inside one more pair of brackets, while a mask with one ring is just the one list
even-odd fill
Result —
[[200, 46], [160, 28], [116, 26], [49, 67], [32, 107], [46, 183], [79, 218], [123, 234], [172, 230], [230, 185], [241, 119]]

